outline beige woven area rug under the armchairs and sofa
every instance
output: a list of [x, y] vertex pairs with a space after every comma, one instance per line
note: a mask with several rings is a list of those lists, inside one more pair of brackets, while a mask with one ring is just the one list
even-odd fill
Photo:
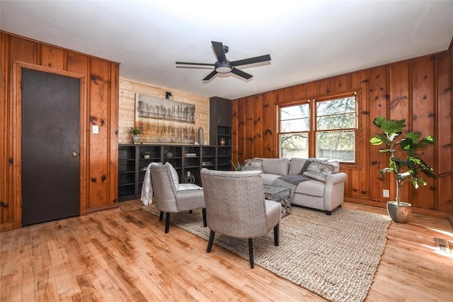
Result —
[[[144, 211], [159, 216], [154, 204]], [[339, 208], [322, 211], [292, 207], [280, 222], [280, 246], [273, 231], [253, 239], [255, 265], [330, 301], [364, 301], [386, 243], [388, 216]], [[171, 214], [171, 223], [207, 240], [201, 210]], [[216, 233], [215, 245], [248, 260], [247, 240]], [[202, 250], [200, 252], [205, 252]]]

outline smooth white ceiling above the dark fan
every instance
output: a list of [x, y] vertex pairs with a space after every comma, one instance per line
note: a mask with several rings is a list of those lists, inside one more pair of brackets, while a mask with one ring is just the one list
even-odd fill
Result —
[[[447, 50], [453, 1], [0, 1], [8, 33], [120, 63], [120, 76], [197, 95], [240, 98]], [[176, 61], [214, 63], [211, 41], [244, 80]]]

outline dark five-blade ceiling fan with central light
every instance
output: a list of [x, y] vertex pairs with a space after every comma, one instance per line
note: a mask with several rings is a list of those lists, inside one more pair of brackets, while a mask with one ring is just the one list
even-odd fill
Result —
[[241, 76], [244, 79], [248, 80], [252, 77], [252, 75], [247, 74], [246, 72], [237, 69], [236, 66], [270, 61], [270, 54], [265, 54], [265, 55], [259, 56], [259, 57], [241, 59], [241, 60], [230, 62], [226, 59], [226, 56], [225, 56], [225, 54], [229, 50], [229, 47], [226, 45], [223, 45], [222, 42], [215, 42], [215, 41], [211, 41], [211, 42], [212, 42], [212, 47], [214, 47], [215, 55], [217, 57], [217, 62], [215, 62], [214, 64], [190, 63], [190, 62], [176, 62], [176, 64], [214, 66], [214, 70], [210, 74], [208, 74], [205, 77], [205, 79], [203, 79], [203, 81], [212, 79], [212, 77], [215, 76], [216, 74], [228, 74], [229, 72], [232, 72], [233, 74], [236, 74], [236, 75]]

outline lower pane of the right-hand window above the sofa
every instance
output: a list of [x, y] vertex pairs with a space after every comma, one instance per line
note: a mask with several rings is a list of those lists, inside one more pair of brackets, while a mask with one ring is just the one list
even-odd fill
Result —
[[317, 158], [355, 162], [355, 132], [318, 132], [316, 134]]

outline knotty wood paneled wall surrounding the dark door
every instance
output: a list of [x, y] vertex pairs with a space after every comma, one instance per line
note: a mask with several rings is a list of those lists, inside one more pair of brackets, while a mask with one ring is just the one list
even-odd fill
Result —
[[21, 227], [21, 66], [81, 79], [80, 214], [117, 207], [119, 64], [5, 32], [0, 42], [0, 230]]

